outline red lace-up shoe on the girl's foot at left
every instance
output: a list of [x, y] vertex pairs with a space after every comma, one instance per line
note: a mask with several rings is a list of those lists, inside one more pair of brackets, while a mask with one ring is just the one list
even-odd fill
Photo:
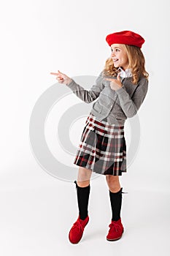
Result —
[[69, 241], [71, 241], [72, 244], [77, 244], [81, 240], [84, 228], [88, 224], [88, 220], [88, 216], [85, 219], [80, 219], [79, 215], [77, 221], [69, 231]]

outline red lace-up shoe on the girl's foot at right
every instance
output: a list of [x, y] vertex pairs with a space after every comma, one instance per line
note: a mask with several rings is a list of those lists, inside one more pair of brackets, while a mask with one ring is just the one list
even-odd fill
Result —
[[121, 218], [116, 221], [113, 221], [110, 223], [109, 225], [110, 229], [109, 229], [109, 233], [107, 235], [107, 240], [108, 241], [115, 241], [121, 238], [121, 236], [123, 235], [123, 225], [121, 222]]

